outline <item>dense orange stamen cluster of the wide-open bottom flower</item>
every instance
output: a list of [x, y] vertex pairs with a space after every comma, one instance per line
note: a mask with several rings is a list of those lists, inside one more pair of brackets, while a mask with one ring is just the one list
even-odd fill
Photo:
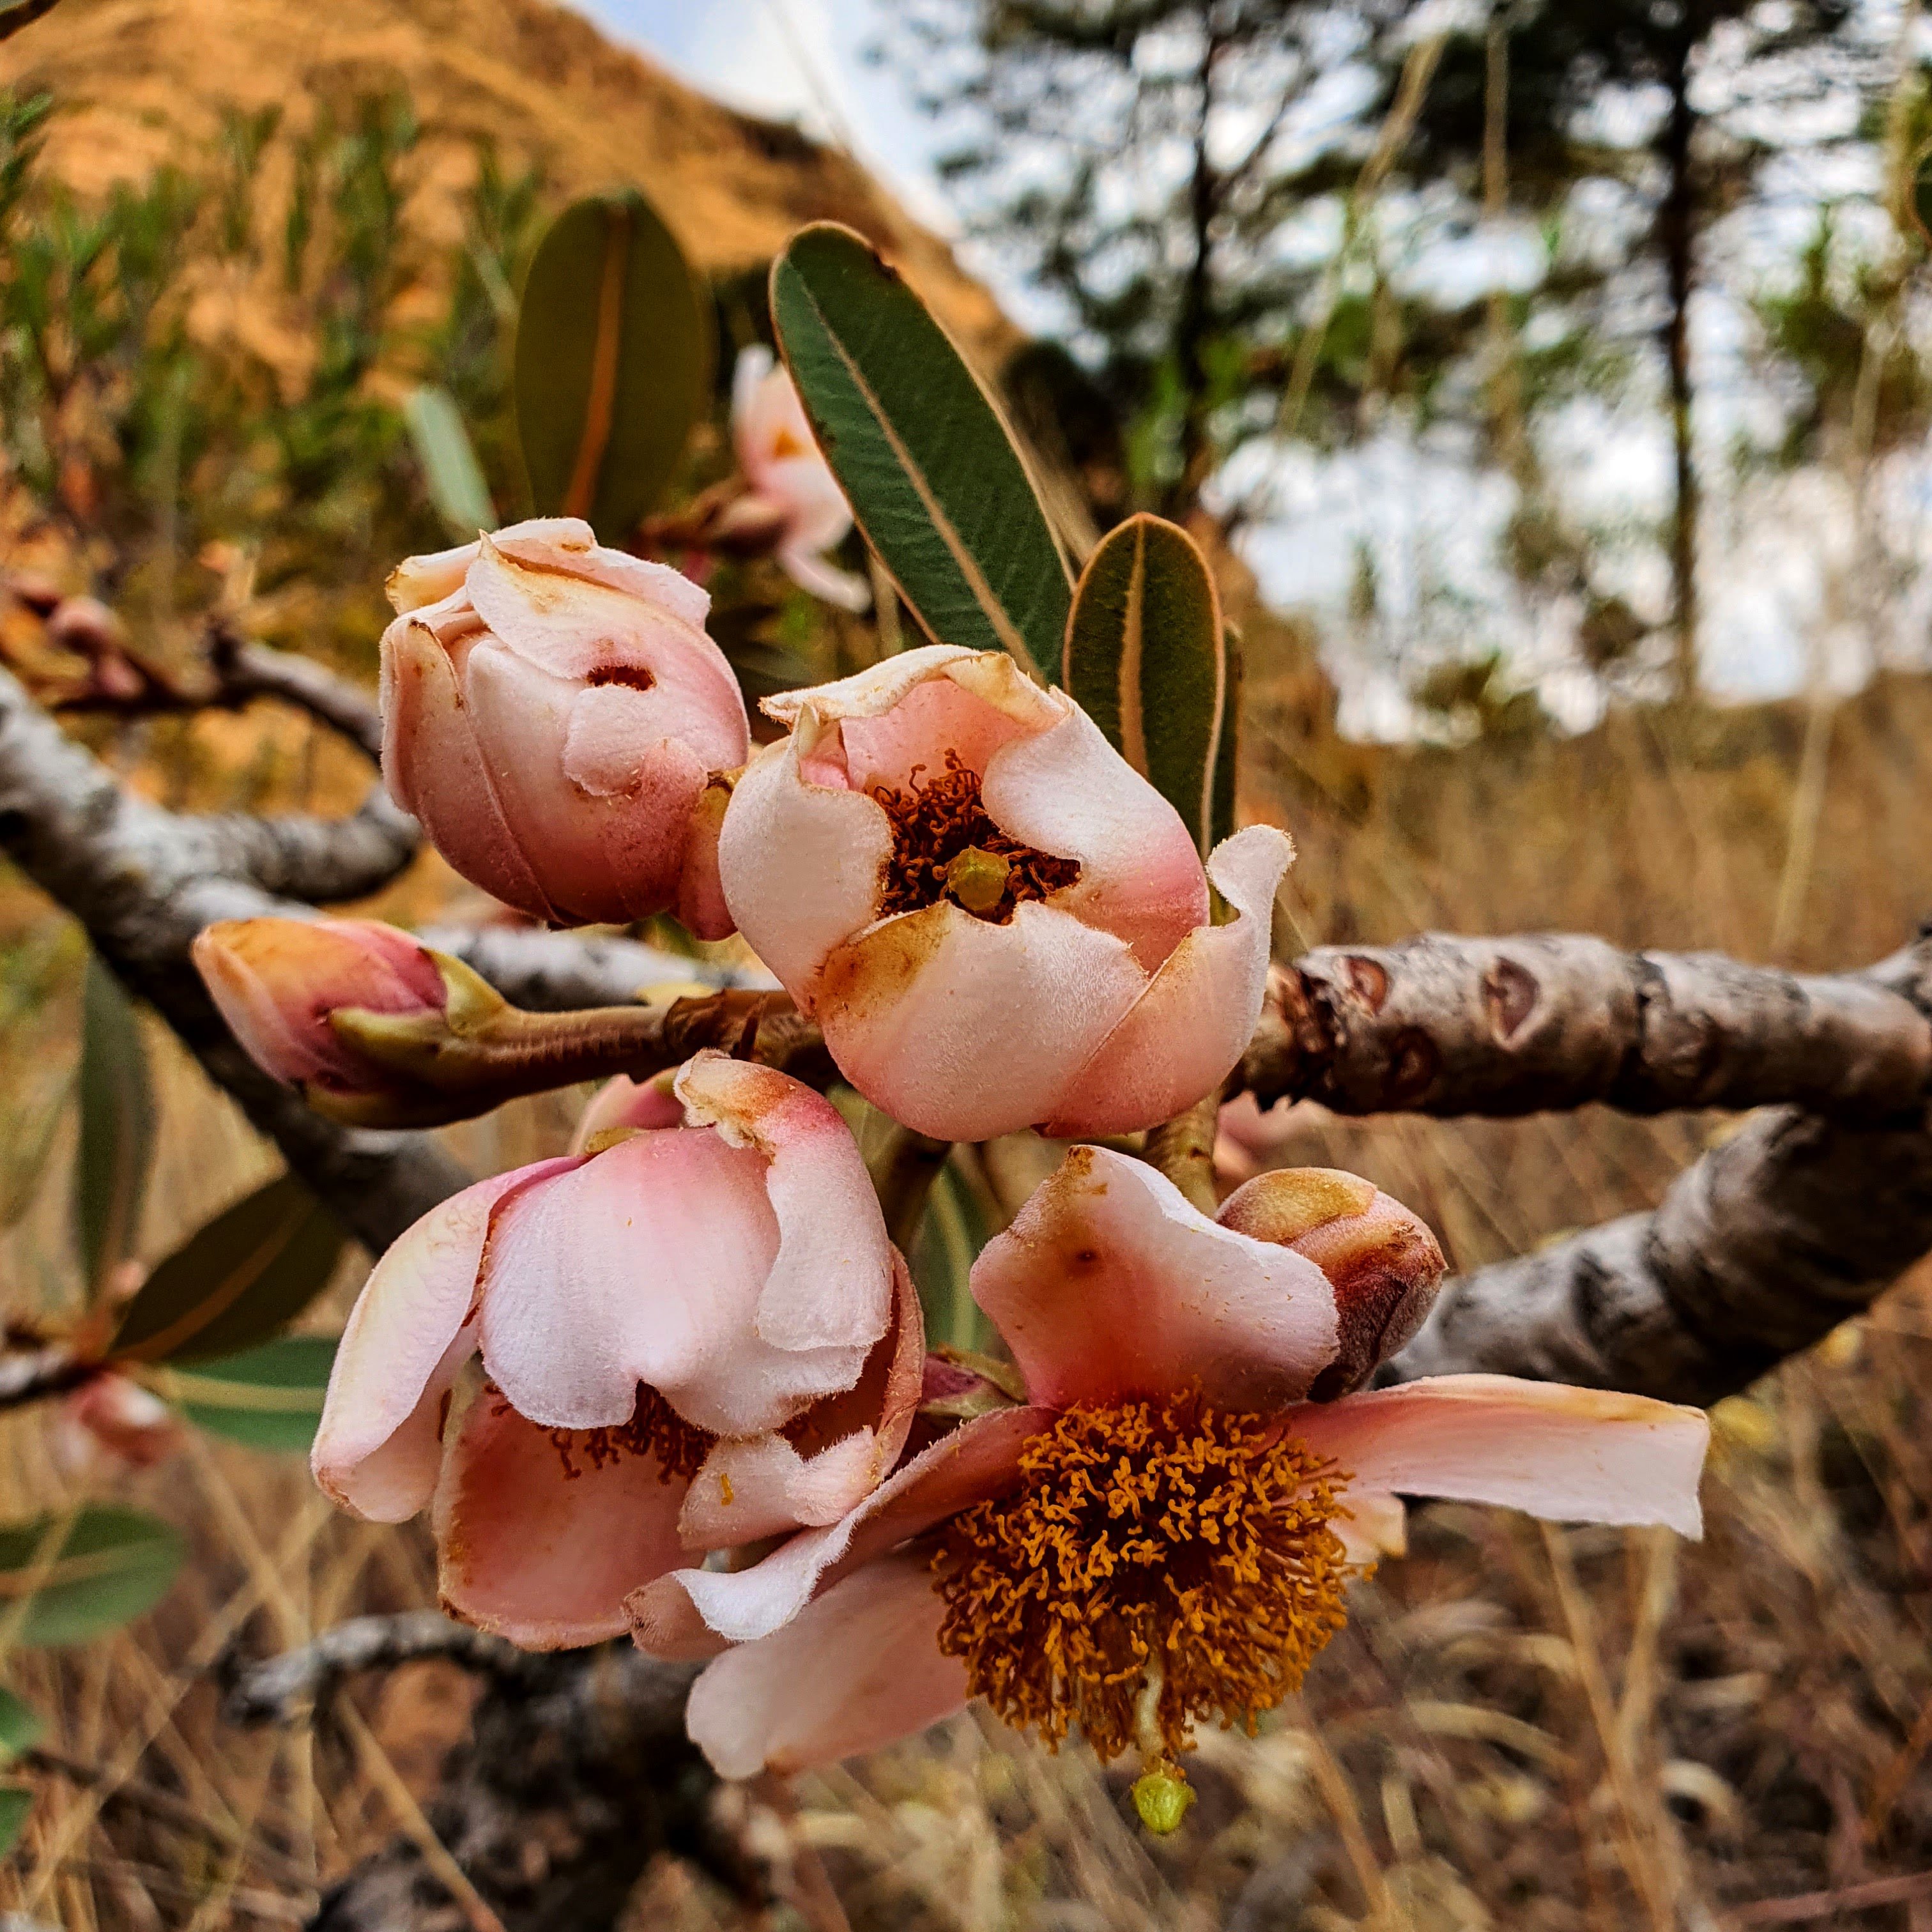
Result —
[[1200, 1718], [1252, 1731], [1347, 1621], [1347, 1480], [1198, 1391], [1068, 1408], [1010, 1495], [947, 1526], [939, 1648], [1047, 1745], [1078, 1725], [1101, 1758], [1153, 1748], [1148, 1718], [1169, 1754]]

